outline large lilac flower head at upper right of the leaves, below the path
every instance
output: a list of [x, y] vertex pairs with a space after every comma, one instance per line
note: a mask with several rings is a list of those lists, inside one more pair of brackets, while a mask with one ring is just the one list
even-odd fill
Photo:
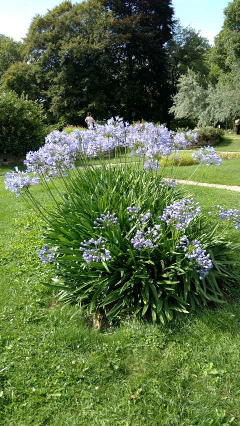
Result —
[[158, 216], [167, 226], [174, 226], [176, 230], [183, 229], [187, 222], [200, 213], [199, 203], [194, 203], [193, 198], [174, 201], [166, 206], [161, 216]]

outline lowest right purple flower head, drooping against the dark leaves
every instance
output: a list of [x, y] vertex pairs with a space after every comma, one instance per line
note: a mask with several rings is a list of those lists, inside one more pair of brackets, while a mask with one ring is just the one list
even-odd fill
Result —
[[202, 244], [198, 240], [189, 241], [186, 235], [179, 244], [176, 249], [182, 248], [185, 257], [192, 263], [193, 269], [196, 270], [199, 279], [202, 280], [208, 274], [209, 269], [213, 268], [209, 253], [205, 254], [206, 250], [202, 249]]

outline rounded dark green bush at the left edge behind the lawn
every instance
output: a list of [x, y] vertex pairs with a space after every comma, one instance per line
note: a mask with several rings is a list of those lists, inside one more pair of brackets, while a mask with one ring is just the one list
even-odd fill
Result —
[[0, 93], [0, 154], [24, 155], [44, 143], [42, 108], [14, 92]]

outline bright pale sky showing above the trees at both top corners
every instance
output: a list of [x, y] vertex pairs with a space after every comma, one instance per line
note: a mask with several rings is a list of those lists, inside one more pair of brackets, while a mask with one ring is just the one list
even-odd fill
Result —
[[[61, 0], [0, 0], [0, 34], [12, 37], [15, 41], [26, 35], [32, 18], [36, 14], [44, 15], [60, 4]], [[78, 1], [72, 0], [72, 3]], [[183, 27], [191, 26], [210, 44], [223, 25], [223, 9], [228, 0], [172, 0], [175, 18]]]

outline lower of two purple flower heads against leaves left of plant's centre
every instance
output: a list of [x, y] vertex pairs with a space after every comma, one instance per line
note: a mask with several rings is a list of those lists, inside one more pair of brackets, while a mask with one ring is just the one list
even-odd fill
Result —
[[82, 257], [86, 263], [92, 262], [107, 262], [110, 260], [110, 251], [105, 248], [105, 241], [99, 237], [97, 240], [91, 238], [88, 242], [84, 240], [80, 243], [82, 247], [79, 248], [83, 251]]

